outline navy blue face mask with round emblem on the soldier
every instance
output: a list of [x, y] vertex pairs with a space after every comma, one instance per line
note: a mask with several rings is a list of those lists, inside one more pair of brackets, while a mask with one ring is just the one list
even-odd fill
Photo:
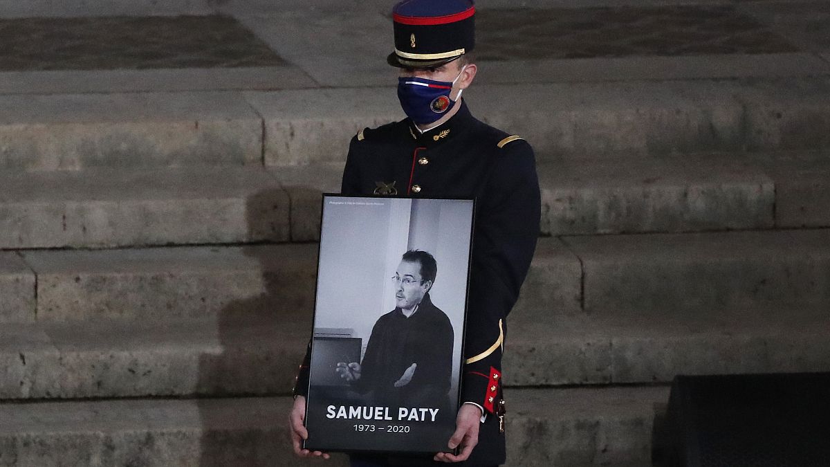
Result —
[[461, 99], [463, 90], [458, 91], [455, 101], [450, 99], [450, 92], [464, 68], [466, 65], [461, 67], [461, 71], [452, 82], [415, 77], [398, 78], [398, 99], [401, 101], [403, 113], [418, 125], [428, 125], [440, 119]]

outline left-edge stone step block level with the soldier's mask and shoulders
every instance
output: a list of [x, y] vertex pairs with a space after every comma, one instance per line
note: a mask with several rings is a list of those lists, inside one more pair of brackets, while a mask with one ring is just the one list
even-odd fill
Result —
[[0, 96], [0, 168], [261, 165], [262, 120], [236, 92]]

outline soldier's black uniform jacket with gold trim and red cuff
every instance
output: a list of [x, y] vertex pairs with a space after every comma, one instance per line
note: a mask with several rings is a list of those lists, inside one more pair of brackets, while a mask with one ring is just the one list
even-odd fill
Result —
[[[476, 198], [461, 401], [486, 410], [479, 444], [466, 465], [505, 461], [496, 415], [506, 317], [515, 304], [539, 237], [540, 192], [530, 145], [476, 120], [466, 103], [420, 134], [405, 119], [363, 130], [349, 145], [343, 194]], [[296, 394], [308, 388], [306, 354]], [[403, 465], [407, 465], [404, 463]]]

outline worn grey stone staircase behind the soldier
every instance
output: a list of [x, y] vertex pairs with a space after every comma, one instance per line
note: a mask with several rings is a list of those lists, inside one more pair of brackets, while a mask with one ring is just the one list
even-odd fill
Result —
[[[286, 417], [320, 194], [401, 118], [344, 31], [388, 19], [226, 7], [290, 63], [0, 73], [0, 465], [311, 464]], [[509, 465], [651, 465], [676, 374], [830, 371], [830, 63], [799, 53], [482, 62], [471, 110], [542, 188]]]

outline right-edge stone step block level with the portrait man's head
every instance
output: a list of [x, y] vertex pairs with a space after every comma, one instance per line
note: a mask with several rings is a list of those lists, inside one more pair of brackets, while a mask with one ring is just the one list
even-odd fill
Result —
[[[563, 237], [588, 313], [827, 305], [830, 230]], [[530, 294], [532, 297], [532, 294]]]

